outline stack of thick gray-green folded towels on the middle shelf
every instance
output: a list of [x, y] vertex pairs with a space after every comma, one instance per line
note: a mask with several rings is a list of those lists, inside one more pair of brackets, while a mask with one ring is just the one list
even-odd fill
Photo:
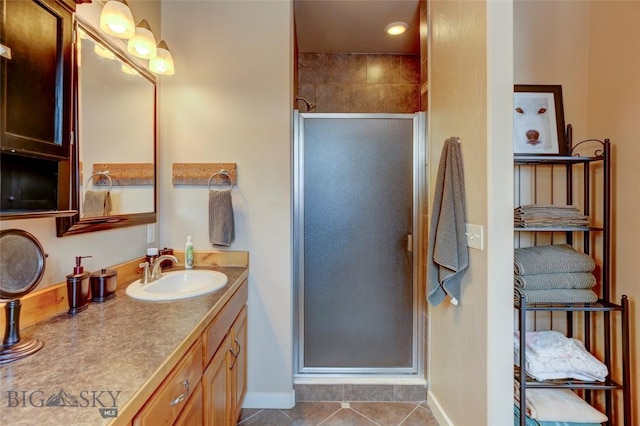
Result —
[[514, 284], [528, 303], [593, 303], [594, 260], [568, 244], [517, 248]]

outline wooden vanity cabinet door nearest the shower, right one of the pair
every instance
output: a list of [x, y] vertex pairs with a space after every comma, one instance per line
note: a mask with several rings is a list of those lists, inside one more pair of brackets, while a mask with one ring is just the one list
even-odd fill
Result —
[[[247, 391], [247, 307], [243, 307], [242, 311], [236, 318], [231, 328], [233, 340], [230, 342], [233, 349], [230, 373], [231, 373], [231, 395], [233, 398], [233, 418], [231, 425], [235, 425], [240, 411], [242, 410], [242, 402]], [[235, 355], [233, 355], [235, 354]]]

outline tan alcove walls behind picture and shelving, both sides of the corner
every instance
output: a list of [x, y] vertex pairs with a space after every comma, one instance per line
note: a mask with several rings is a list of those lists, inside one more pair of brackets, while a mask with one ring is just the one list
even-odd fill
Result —
[[[630, 299], [631, 406], [635, 424], [640, 406], [640, 274], [635, 266], [637, 242], [632, 230], [640, 211], [640, 2], [514, 4], [515, 81], [563, 86], [565, 119], [574, 125], [574, 143], [586, 138], [611, 139], [612, 290], [615, 300], [622, 294]], [[614, 341], [619, 344], [617, 337]], [[619, 363], [614, 364], [614, 377], [620, 377], [620, 369]], [[614, 419], [614, 424], [620, 423]]]

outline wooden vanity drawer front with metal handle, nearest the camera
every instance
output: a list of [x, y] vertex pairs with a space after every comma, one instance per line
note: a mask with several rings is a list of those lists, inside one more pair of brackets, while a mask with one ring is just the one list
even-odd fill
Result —
[[197, 391], [201, 376], [202, 341], [198, 339], [140, 410], [133, 424], [173, 424]]

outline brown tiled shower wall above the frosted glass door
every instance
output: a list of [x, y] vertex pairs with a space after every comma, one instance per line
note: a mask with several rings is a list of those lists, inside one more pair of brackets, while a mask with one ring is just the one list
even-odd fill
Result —
[[[420, 111], [420, 56], [299, 53], [298, 95], [312, 112]], [[304, 102], [296, 105], [306, 111]]]

